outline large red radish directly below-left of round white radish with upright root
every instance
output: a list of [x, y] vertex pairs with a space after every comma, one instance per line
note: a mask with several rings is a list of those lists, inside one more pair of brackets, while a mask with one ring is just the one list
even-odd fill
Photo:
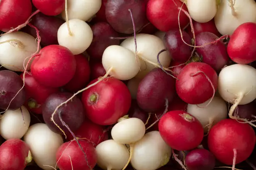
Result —
[[74, 76], [76, 60], [72, 52], [61, 45], [49, 45], [41, 49], [31, 64], [34, 78], [42, 85], [61, 87]]

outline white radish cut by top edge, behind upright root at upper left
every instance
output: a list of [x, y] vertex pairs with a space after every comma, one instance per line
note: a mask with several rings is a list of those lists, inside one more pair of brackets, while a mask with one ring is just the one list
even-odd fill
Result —
[[[101, 7], [102, 0], [67, 0], [69, 19], [90, 20]], [[61, 16], [66, 20], [65, 10]]]

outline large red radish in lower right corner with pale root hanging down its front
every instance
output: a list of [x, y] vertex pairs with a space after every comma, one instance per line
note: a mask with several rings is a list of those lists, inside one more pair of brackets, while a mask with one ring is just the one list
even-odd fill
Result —
[[[208, 147], [215, 157], [226, 165], [246, 160], [255, 145], [253, 128], [234, 119], [224, 119], [214, 125], [208, 134]], [[233, 163], [233, 159], [236, 162]]]

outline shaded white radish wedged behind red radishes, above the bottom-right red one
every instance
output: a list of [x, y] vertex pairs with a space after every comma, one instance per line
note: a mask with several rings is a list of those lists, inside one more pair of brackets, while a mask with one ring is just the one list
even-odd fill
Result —
[[[209, 103], [209, 105], [207, 105]], [[225, 101], [220, 97], [213, 97], [199, 105], [187, 105], [187, 112], [197, 118], [208, 132], [212, 125], [228, 117], [228, 108]]]

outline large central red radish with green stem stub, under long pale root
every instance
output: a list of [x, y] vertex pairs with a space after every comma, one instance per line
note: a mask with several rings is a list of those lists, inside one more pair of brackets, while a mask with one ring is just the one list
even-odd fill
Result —
[[[96, 82], [92, 80], [90, 84]], [[90, 96], [95, 94], [95, 102]], [[128, 113], [131, 106], [131, 94], [128, 87], [120, 80], [109, 77], [82, 93], [85, 115], [96, 124], [113, 125], [120, 117]]]

